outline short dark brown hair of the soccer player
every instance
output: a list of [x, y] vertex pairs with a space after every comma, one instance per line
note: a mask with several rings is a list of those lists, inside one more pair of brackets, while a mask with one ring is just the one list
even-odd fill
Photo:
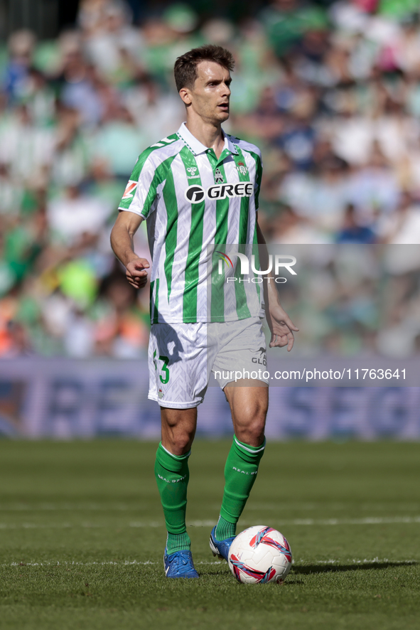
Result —
[[232, 72], [235, 67], [235, 59], [230, 50], [215, 46], [215, 44], [205, 44], [200, 48], [188, 50], [188, 53], [181, 55], [175, 62], [173, 73], [175, 75], [176, 89], [181, 90], [182, 87], [192, 89], [195, 79], [197, 78], [197, 66], [201, 61], [214, 61], [223, 68]]

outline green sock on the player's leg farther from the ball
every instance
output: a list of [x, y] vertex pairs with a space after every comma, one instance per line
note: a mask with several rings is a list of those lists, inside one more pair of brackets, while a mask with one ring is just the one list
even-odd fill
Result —
[[185, 526], [187, 487], [190, 478], [188, 457], [190, 453], [173, 455], [161, 442], [156, 451], [155, 476], [168, 530], [166, 540], [168, 554], [190, 549], [191, 546]]

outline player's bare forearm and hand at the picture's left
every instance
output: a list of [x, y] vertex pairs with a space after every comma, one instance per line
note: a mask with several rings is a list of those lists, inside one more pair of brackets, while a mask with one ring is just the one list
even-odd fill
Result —
[[112, 250], [126, 268], [127, 280], [136, 289], [146, 284], [150, 267], [146, 258], [140, 258], [134, 252], [133, 237], [142, 220], [140, 215], [125, 210], [119, 213], [111, 232]]

